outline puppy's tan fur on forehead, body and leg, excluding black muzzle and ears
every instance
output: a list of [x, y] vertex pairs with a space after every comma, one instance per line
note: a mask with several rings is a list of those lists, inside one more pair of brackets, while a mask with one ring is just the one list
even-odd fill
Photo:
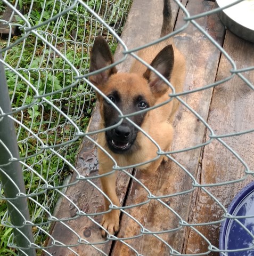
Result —
[[[146, 62], [151, 63], [155, 55], [158, 54], [158, 52], [169, 43], [171, 42], [164, 41], [160, 44], [153, 45], [147, 49], [142, 50], [138, 55]], [[183, 55], [176, 49], [176, 47], [173, 46], [173, 48], [175, 63], [170, 82], [175, 87], [176, 92], [181, 92], [183, 89], [183, 82], [185, 77], [185, 60]], [[150, 99], [150, 106], [154, 106], [168, 100], [168, 94], [171, 93], [171, 89], [168, 89], [167, 93], [163, 94], [159, 98], [155, 98], [154, 95], [152, 95], [147, 81], [145, 81], [145, 79], [142, 77], [145, 70], [146, 67], [142, 65], [141, 62], [135, 61], [132, 68], [130, 69], [130, 73], [112, 75], [109, 78], [106, 86], [103, 86], [103, 93], [107, 94], [107, 92], [111, 91], [112, 89], [116, 89], [121, 91], [121, 95], [133, 95], [133, 97], [135, 97], [135, 92], [137, 93], [142, 91], [142, 93], [148, 95]], [[166, 105], [149, 111], [145, 116], [144, 122], [141, 126], [142, 130], [148, 133], [158, 143], [161, 150], [163, 151], [168, 151], [170, 149], [174, 133], [171, 122], [174, 119], [178, 105], [178, 100], [174, 99]], [[103, 128], [104, 124], [102, 104], [100, 105], [100, 112], [102, 116], [101, 128]], [[115, 159], [119, 166], [128, 166], [146, 162], [157, 156], [158, 148], [142, 132], [138, 133], [136, 140], [140, 145], [140, 149], [135, 151], [134, 154], [122, 155], [114, 154], [111, 152], [106, 143], [104, 133], [99, 134], [98, 143], [110, 153], [110, 155]], [[113, 162], [108, 156], [106, 156], [105, 153], [103, 153], [102, 150], [99, 149], [98, 153], [100, 162], [99, 173], [104, 174], [110, 172], [113, 167]], [[158, 169], [162, 159], [163, 157], [160, 157], [156, 161], [139, 166], [136, 169], [142, 170], [148, 174], [153, 173]], [[108, 195], [114, 205], [119, 206], [119, 200], [116, 195], [116, 173], [101, 178], [101, 183], [104, 193]], [[110, 203], [108, 199], [105, 198], [106, 211], [109, 209], [109, 205]], [[119, 213], [119, 210], [112, 210], [103, 216], [101, 224], [105, 229], [109, 231], [110, 234], [114, 234], [114, 232], [119, 230]], [[105, 235], [105, 231], [102, 230], [102, 236]]]

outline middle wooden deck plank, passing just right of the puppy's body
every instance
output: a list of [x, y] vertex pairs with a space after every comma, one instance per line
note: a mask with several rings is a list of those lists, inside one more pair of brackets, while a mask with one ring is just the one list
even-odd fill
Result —
[[[187, 10], [191, 14], [208, 11], [213, 7], [214, 3], [208, 1], [190, 1], [187, 3]], [[180, 13], [176, 28], [184, 25], [185, 22], [182, 18], [183, 14]], [[222, 44], [224, 27], [217, 15], [199, 19], [198, 23]], [[215, 81], [220, 53], [198, 29], [190, 25], [175, 37], [175, 43], [178, 49], [186, 56], [187, 76], [185, 91], [200, 88]], [[211, 95], [212, 89], [189, 94], [182, 98], [204, 119], [207, 119]], [[205, 127], [186, 107], [181, 106], [174, 124], [175, 138], [172, 150], [189, 148], [200, 145], [203, 142]], [[175, 154], [174, 157], [195, 177], [199, 166], [200, 153], [201, 149], [199, 148]], [[136, 178], [155, 196], [181, 193], [192, 188], [192, 180], [189, 175], [173, 162], [167, 162], [155, 174], [149, 176], [137, 173]], [[147, 196], [148, 193], [137, 182], [133, 181], [126, 204], [133, 205], [144, 202]], [[181, 227], [178, 217], [168, 209], [167, 205], [174, 209], [183, 220], [187, 220], [189, 217], [191, 193], [168, 197], [163, 199], [163, 202], [165, 202], [165, 205], [152, 200], [149, 204], [133, 207], [126, 211], [139, 221], [145, 229], [150, 231], [162, 233], [169, 229]], [[124, 214], [118, 237], [127, 238], [141, 235], [141, 229], [137, 222]], [[185, 228], [181, 228], [170, 233], [158, 234], [158, 236], [164, 239], [174, 250], [181, 252], [184, 244], [184, 233]], [[153, 235], [143, 234], [141, 237], [128, 239], [125, 242], [131, 248], [117, 241], [112, 255], [135, 255], [134, 249], [142, 255], [170, 254], [170, 246], [161, 242]]]

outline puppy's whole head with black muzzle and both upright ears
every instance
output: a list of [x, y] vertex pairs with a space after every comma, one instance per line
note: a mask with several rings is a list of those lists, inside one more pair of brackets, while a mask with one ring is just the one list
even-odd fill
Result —
[[[90, 71], [96, 71], [111, 63], [113, 63], [113, 58], [108, 44], [102, 37], [97, 37], [91, 52]], [[167, 79], [170, 78], [173, 65], [174, 52], [171, 45], [165, 47], [151, 63], [151, 66]], [[168, 91], [168, 85], [163, 83], [150, 69], [147, 69], [143, 76], [139, 76], [131, 73], [117, 73], [117, 69], [113, 67], [92, 75], [89, 79], [107, 97], [105, 99], [96, 93], [100, 101], [100, 113], [104, 127], [116, 125], [121, 121], [119, 111], [111, 102], [121, 110], [123, 115], [128, 115], [153, 106], [155, 101]], [[132, 115], [129, 119], [141, 127], [148, 115], [149, 113], [143, 112]], [[122, 119], [118, 126], [105, 132], [109, 149], [116, 154], [132, 153], [138, 148], [136, 141], [138, 131], [132, 123]]]

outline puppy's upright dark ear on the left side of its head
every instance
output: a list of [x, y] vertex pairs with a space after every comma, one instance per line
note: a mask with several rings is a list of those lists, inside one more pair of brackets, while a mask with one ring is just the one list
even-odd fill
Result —
[[[109, 66], [113, 62], [113, 57], [108, 43], [106, 43], [102, 36], [97, 36], [91, 51], [90, 72]], [[89, 80], [95, 85], [102, 85], [114, 73], [117, 73], [116, 67], [106, 69], [99, 74], [92, 75], [89, 77]]]

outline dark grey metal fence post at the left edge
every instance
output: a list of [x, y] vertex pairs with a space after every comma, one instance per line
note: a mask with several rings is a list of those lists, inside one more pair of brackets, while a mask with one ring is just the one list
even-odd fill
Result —
[[[2, 59], [2, 54], [0, 58]], [[27, 198], [17, 196], [20, 193], [25, 194], [21, 164], [18, 161], [9, 161], [10, 153], [13, 158], [19, 158], [15, 127], [11, 118], [1, 116], [3, 113], [11, 112], [5, 71], [1, 62], [0, 92], [0, 180], [7, 198], [15, 241], [20, 247], [18, 255], [34, 256], [36, 255], [35, 249], [30, 246], [34, 242], [32, 229], [31, 226], [24, 225], [24, 220], [30, 220]]]

